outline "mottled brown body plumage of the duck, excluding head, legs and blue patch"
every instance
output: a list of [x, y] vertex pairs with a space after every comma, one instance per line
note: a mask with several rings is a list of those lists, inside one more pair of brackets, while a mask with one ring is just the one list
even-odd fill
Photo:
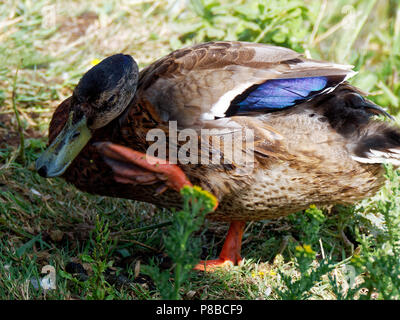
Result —
[[[370, 149], [385, 152], [386, 159], [396, 163], [397, 154], [389, 149], [400, 146], [400, 135], [371, 119], [383, 112], [370, 102], [357, 106], [352, 101], [359, 91], [343, 82], [350, 73], [347, 66], [260, 44], [217, 42], [178, 50], [141, 71], [134, 99], [121, 115], [93, 132], [63, 177], [90, 193], [179, 207], [176, 191], [156, 194], [162, 181], [116, 182], [93, 143], [109, 141], [146, 152], [148, 130], [161, 128], [168, 134], [168, 121], [195, 130], [239, 125], [254, 130], [254, 168], [180, 165], [193, 184], [217, 196], [218, 209], [208, 218], [270, 219], [310, 204], [354, 203], [373, 195], [384, 182], [383, 161], [371, 157]], [[221, 114], [226, 111], [223, 103], [227, 109], [237, 96], [268, 79], [312, 76], [328, 77], [331, 91], [277, 112]], [[54, 113], [50, 143], [65, 125], [72, 104], [72, 98], [67, 99]], [[392, 135], [387, 143], [374, 144], [374, 136], [385, 134]], [[371, 145], [363, 144], [367, 137]]]

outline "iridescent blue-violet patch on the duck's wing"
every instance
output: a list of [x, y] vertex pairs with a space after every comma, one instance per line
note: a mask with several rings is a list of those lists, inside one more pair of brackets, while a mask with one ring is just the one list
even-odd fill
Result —
[[327, 84], [327, 77], [268, 80], [237, 104], [238, 111], [290, 107], [301, 100], [312, 98], [325, 89]]

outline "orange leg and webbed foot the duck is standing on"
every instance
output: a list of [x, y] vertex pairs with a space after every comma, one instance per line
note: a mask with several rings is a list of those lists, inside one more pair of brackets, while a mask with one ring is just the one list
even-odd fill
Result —
[[237, 265], [242, 261], [240, 249], [242, 246], [243, 231], [246, 223], [244, 221], [233, 221], [229, 226], [224, 245], [218, 259], [200, 261], [194, 269], [201, 271], [213, 271], [215, 268], [229, 264]]

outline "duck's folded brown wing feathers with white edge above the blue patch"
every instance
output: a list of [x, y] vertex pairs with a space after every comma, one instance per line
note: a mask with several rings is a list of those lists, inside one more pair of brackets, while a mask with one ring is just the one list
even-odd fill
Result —
[[304, 58], [282, 47], [209, 42], [172, 52], [140, 73], [138, 94], [164, 121], [203, 127], [226, 116], [231, 102], [271, 79], [331, 77], [329, 87], [354, 72], [351, 66]]

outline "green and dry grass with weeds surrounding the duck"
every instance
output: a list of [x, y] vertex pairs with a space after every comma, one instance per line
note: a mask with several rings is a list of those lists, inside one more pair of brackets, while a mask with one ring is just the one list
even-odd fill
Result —
[[[353, 84], [399, 119], [400, 6], [377, 2], [2, 1], [0, 299], [158, 299], [163, 283], [182, 299], [399, 299], [400, 186], [390, 168], [387, 186], [353, 207], [249, 223], [243, 266], [188, 272], [174, 287], [171, 212], [82, 193], [33, 167], [55, 107], [95, 59], [126, 52], [144, 67], [200, 41], [272, 43], [353, 64]], [[217, 256], [226, 230], [206, 221], [194, 232], [201, 258]], [[45, 265], [56, 268], [56, 290], [32, 285]], [[165, 279], [153, 281], [149, 265]]]

